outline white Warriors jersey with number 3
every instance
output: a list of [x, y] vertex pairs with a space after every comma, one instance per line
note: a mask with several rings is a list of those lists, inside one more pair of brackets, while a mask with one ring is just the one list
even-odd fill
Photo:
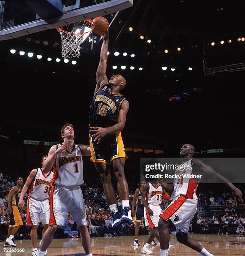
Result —
[[32, 181], [29, 195], [36, 200], [45, 200], [49, 197], [49, 189], [51, 186], [51, 179], [53, 177], [53, 172], [45, 175], [42, 169], [38, 168], [35, 178]]

